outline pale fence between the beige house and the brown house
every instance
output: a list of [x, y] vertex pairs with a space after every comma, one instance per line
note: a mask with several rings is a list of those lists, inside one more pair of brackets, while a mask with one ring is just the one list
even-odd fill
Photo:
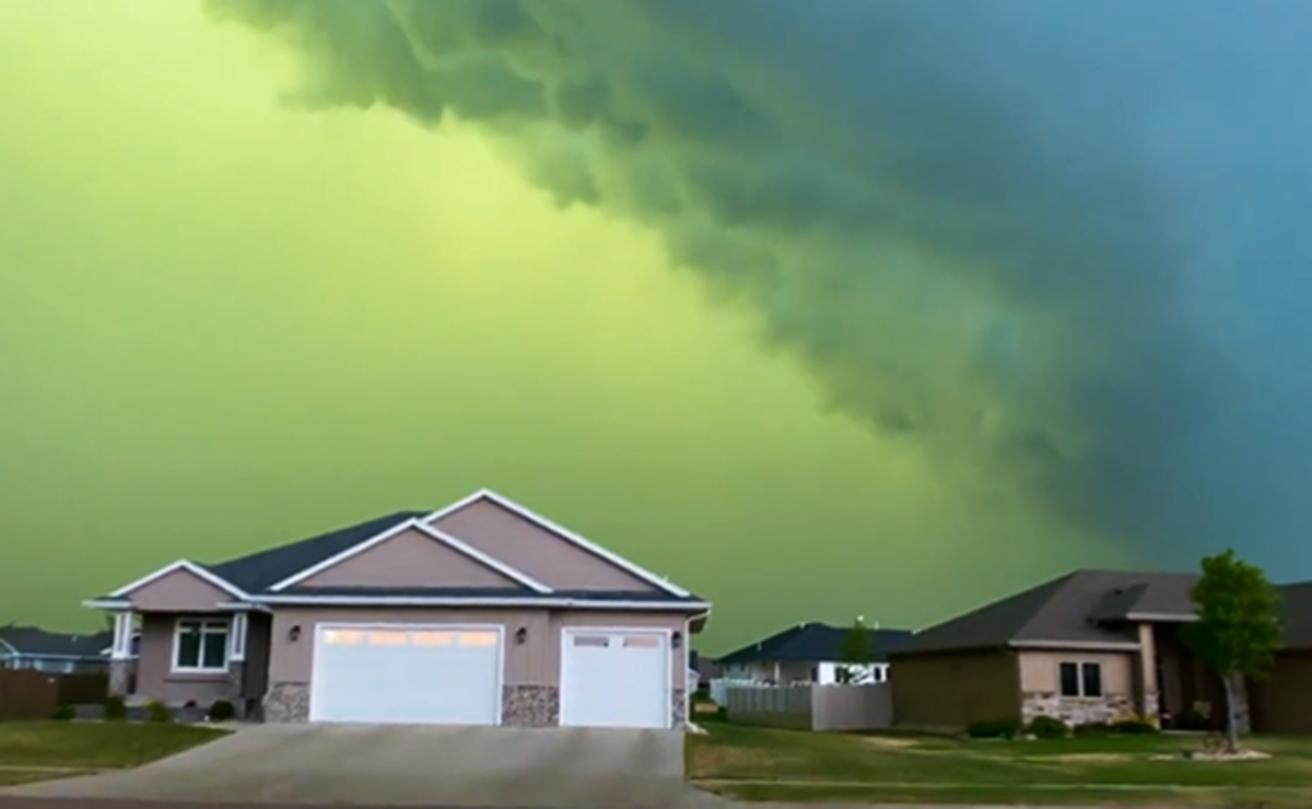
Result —
[[[712, 684], [714, 690], [714, 684]], [[888, 683], [869, 686], [724, 686], [731, 722], [803, 730], [879, 730], [892, 726]], [[714, 691], [712, 691], [714, 692]]]

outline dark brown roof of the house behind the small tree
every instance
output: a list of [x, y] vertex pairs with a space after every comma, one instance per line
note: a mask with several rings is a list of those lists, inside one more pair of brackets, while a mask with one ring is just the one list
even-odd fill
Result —
[[[1198, 573], [1075, 570], [916, 633], [905, 653], [991, 646], [1105, 646], [1139, 642], [1139, 622], [1194, 619]], [[1286, 644], [1312, 645], [1312, 583], [1277, 587]]]

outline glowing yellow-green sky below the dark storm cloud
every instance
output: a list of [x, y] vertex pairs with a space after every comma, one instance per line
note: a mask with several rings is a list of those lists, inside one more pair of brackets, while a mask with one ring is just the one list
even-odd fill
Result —
[[476, 130], [279, 105], [286, 59], [180, 0], [0, 4], [0, 620], [479, 486], [715, 601], [710, 649], [1118, 561]]

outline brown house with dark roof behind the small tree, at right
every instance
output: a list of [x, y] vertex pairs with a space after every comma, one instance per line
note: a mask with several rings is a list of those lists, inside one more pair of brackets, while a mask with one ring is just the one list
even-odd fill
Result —
[[[1138, 715], [1223, 721], [1220, 679], [1183, 645], [1195, 573], [1077, 570], [917, 632], [891, 656], [899, 725], [962, 728], [1040, 715], [1072, 724]], [[1286, 650], [1240, 683], [1242, 722], [1312, 732], [1312, 585], [1288, 585]], [[1302, 708], [1299, 707], [1302, 705]]]

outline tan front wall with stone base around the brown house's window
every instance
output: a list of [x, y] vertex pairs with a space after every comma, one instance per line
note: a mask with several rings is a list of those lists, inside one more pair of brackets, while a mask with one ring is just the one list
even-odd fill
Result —
[[[1030, 721], [1035, 716], [1055, 716], [1061, 721], [1081, 725], [1110, 722], [1134, 715], [1136, 660], [1136, 654], [1128, 652], [1022, 652], [1019, 654], [1022, 719]], [[1102, 669], [1102, 696], [1061, 696], [1057, 667], [1063, 662], [1098, 663]]]

